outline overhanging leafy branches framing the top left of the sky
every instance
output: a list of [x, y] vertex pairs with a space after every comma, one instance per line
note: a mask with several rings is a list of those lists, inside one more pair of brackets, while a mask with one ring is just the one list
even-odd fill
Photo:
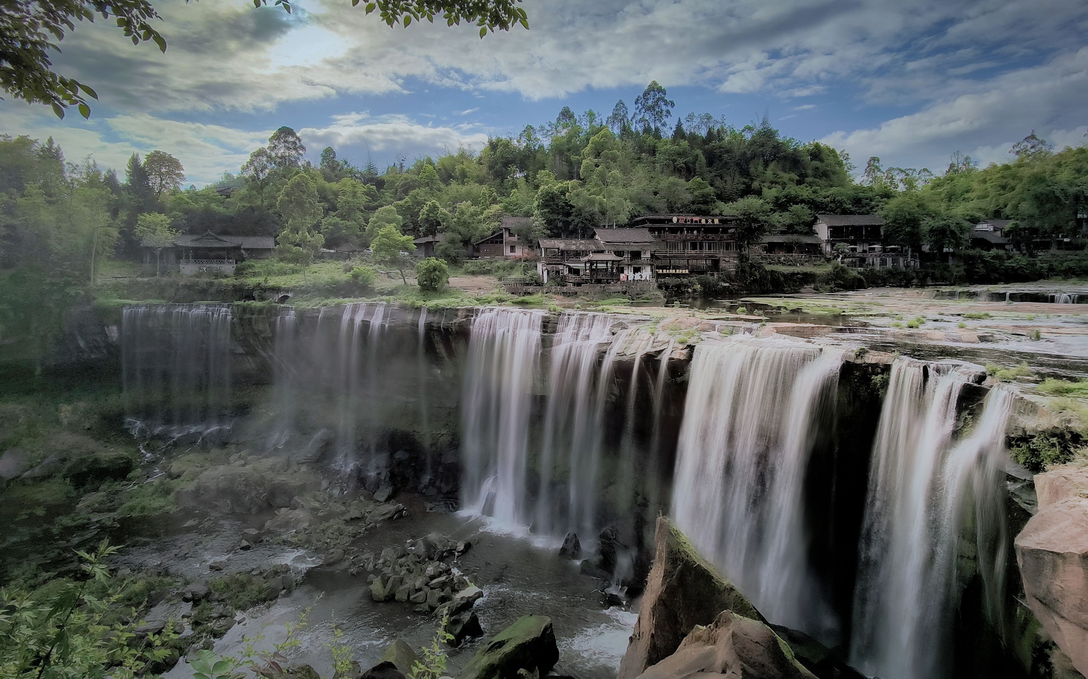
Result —
[[[447, 26], [463, 21], [480, 26], [480, 37], [487, 32], [509, 30], [517, 24], [529, 28], [526, 11], [518, 7], [521, 0], [374, 0], [366, 5], [367, 14], [378, 12], [390, 27], [426, 20], [436, 15], [446, 20]], [[255, 0], [256, 7], [268, 0]], [[290, 12], [289, 0], [275, 0], [274, 4]], [[354, 0], [353, 5], [358, 4]], [[0, 88], [16, 99], [30, 103], [45, 103], [58, 117], [64, 117], [69, 106], [77, 106], [84, 117], [90, 116], [87, 97], [98, 99], [90, 87], [52, 70], [50, 51], [60, 51], [58, 42], [65, 33], [75, 29], [75, 22], [95, 21], [95, 14], [116, 20], [124, 36], [139, 45], [151, 40], [163, 52], [165, 39], [151, 23], [161, 18], [148, 0], [38, 0], [0, 2]]]

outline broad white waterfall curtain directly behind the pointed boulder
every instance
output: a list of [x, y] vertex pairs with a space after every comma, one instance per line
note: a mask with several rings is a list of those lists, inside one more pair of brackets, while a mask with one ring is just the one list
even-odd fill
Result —
[[700, 552], [768, 619], [823, 638], [836, 624], [806, 559], [803, 480], [842, 361], [788, 340], [697, 345], [673, 479], [672, 515]]

